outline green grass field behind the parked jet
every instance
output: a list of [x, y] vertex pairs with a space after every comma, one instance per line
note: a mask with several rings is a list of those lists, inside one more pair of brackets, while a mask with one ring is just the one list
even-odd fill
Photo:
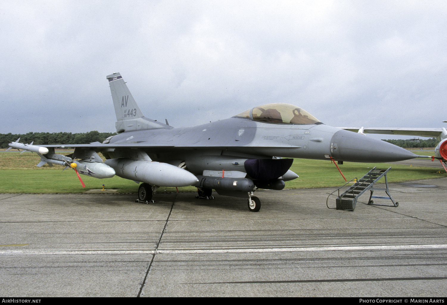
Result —
[[[72, 151], [57, 152], [68, 154]], [[419, 155], [431, 156], [433, 150], [415, 150]], [[96, 179], [81, 175], [86, 187], [80, 185], [76, 173], [72, 169], [62, 171], [63, 167], [55, 165], [50, 167], [44, 165], [36, 167], [39, 157], [35, 153], [17, 151], [0, 151], [0, 193], [82, 193], [86, 190], [118, 189], [118, 193], [136, 193], [138, 185], [134, 181], [113, 177], [109, 179]], [[344, 162], [339, 165], [342, 173], [349, 181], [353, 178], [362, 177], [374, 166], [387, 169], [392, 167], [388, 173], [388, 181], [409, 181], [437, 177], [447, 177], [447, 174], [438, 173], [438, 169], [428, 167], [416, 167], [409, 165], [389, 165], [385, 163], [353, 163]], [[291, 170], [299, 175], [298, 179], [287, 181], [286, 188], [313, 188], [313, 187], [335, 187], [341, 186], [345, 180], [337, 168], [330, 161], [295, 159]], [[193, 186], [178, 188], [179, 191], [196, 191]], [[175, 188], [158, 189], [158, 192], [173, 192]]]

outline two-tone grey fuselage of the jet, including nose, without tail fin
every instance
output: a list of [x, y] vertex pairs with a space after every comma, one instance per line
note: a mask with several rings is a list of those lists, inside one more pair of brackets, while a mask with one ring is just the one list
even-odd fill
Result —
[[337, 161], [392, 162], [415, 156], [385, 141], [325, 124], [273, 124], [239, 117], [188, 128], [124, 132], [113, 136], [109, 143], [137, 144], [154, 161], [171, 164], [185, 161], [187, 168], [196, 174], [211, 169], [205, 168], [207, 164], [198, 164], [237, 157], [241, 160], [273, 156], [318, 160], [333, 157]]

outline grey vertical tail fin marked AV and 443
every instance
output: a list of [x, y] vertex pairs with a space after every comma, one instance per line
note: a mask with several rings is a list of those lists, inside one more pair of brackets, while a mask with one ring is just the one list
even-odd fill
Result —
[[115, 107], [116, 132], [172, 128], [167, 124], [144, 117], [121, 74], [107, 75]]

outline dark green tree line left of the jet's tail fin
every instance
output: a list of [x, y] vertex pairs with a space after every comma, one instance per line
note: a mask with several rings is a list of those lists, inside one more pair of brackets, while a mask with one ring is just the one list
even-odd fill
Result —
[[0, 133], [0, 148], [8, 148], [8, 143], [20, 138], [21, 143], [33, 145], [57, 145], [57, 144], [89, 144], [92, 142], [102, 143], [109, 136], [116, 135], [116, 132], [28, 132], [25, 134]]

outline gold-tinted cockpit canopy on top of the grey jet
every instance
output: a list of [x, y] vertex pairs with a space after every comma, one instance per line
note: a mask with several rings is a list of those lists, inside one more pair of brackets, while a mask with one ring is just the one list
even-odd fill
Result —
[[274, 124], [323, 124], [304, 109], [286, 103], [272, 103], [253, 107], [234, 117]]

